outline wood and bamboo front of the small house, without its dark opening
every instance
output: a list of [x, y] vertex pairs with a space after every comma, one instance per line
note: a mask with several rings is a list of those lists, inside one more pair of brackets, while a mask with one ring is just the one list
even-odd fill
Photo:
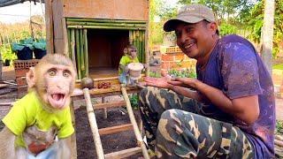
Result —
[[[88, 36], [92, 30], [127, 31], [128, 42], [117, 45], [134, 44], [139, 51], [139, 60], [149, 65], [149, 0], [47, 0], [45, 5], [47, 53], [64, 53], [71, 57], [76, 64], [78, 79], [89, 75], [93, 46], [89, 45]], [[123, 52], [122, 46], [113, 48]], [[115, 57], [115, 61], [121, 56], [122, 53]], [[149, 75], [149, 69], [146, 74]]]

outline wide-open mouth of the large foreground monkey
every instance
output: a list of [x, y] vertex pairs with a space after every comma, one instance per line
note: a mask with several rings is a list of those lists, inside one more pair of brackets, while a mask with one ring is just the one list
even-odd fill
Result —
[[65, 106], [66, 95], [62, 93], [53, 93], [48, 95], [48, 101], [54, 108], [61, 109]]

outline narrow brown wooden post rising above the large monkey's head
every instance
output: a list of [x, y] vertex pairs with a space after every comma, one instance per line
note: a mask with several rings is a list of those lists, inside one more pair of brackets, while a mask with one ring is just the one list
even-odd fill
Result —
[[54, 54], [54, 33], [53, 33], [53, 11], [52, 0], [45, 1], [45, 20], [46, 20], [46, 52]]

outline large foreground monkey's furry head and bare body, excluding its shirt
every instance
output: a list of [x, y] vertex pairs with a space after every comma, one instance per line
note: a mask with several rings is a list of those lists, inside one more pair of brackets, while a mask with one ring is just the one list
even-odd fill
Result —
[[[73, 63], [69, 58], [61, 54], [49, 54], [43, 57], [35, 68], [27, 72], [28, 91], [35, 92], [43, 110], [54, 114], [69, 106], [75, 76]], [[51, 126], [50, 130], [41, 131], [35, 125], [26, 125], [21, 135], [27, 148], [15, 148], [14, 143], [17, 136], [5, 126], [0, 133], [2, 142], [0, 158], [27, 158], [27, 153], [36, 155], [37, 152], [34, 154], [29, 149], [33, 146], [32, 144], [45, 144], [46, 148], [50, 148], [50, 146], [56, 148], [57, 154], [54, 158], [71, 158], [71, 149], [69, 148], [71, 137], [68, 136], [56, 141], [55, 136], [60, 128], [54, 126]]]

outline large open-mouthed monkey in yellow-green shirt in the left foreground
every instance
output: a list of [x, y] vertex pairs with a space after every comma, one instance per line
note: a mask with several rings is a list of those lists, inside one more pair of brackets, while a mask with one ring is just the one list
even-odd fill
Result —
[[49, 54], [27, 72], [28, 93], [2, 120], [0, 158], [70, 158], [72, 61]]

